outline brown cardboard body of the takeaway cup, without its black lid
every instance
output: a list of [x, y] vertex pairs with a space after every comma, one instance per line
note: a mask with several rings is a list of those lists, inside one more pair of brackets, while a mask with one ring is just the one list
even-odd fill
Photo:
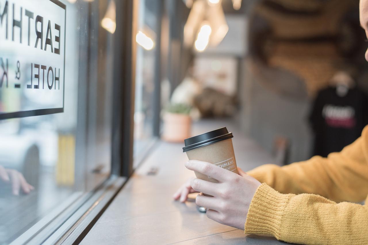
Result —
[[[231, 172], [238, 173], [236, 166], [233, 141], [231, 138], [227, 140], [218, 141], [216, 143], [206, 145], [187, 151], [189, 160], [199, 160], [215, 164], [219, 167], [227, 169]], [[213, 179], [205, 174], [194, 171], [195, 176], [198, 179], [207, 180], [217, 183], [216, 179]]]

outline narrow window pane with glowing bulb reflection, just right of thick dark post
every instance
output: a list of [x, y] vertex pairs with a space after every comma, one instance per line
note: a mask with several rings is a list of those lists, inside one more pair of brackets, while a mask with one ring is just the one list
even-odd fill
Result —
[[155, 1], [140, 0], [138, 14], [137, 64], [134, 110], [134, 156], [144, 152], [153, 138], [154, 61], [157, 25]]

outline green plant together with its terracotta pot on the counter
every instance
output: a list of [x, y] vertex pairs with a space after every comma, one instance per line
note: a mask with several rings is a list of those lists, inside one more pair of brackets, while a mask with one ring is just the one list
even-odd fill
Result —
[[187, 104], [171, 103], [163, 112], [162, 139], [169, 142], [183, 142], [190, 137], [191, 107]]

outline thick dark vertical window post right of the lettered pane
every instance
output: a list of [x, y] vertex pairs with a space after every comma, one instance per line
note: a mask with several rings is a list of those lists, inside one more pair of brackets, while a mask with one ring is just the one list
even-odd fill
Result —
[[[112, 174], [133, 173], [134, 92], [138, 0], [116, 1]], [[120, 11], [119, 11], [120, 10]]]

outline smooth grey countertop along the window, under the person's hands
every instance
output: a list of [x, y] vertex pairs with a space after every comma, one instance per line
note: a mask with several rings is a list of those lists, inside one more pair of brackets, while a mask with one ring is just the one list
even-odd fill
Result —
[[[252, 140], [241, 136], [227, 121], [195, 123], [193, 135], [226, 126], [233, 131], [238, 167], [250, 170], [272, 157]], [[174, 191], [194, 173], [183, 144], [159, 141], [123, 189], [83, 239], [82, 244], [282, 244], [275, 238], [245, 235], [199, 213], [195, 202], [172, 199]], [[147, 175], [157, 167], [155, 175]]]

